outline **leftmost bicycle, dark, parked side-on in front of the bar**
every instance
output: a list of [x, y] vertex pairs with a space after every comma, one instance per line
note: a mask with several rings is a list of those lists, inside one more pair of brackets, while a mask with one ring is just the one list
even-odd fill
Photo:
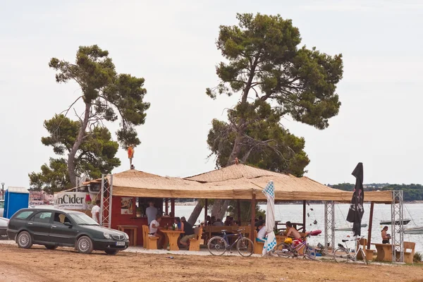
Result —
[[[244, 237], [243, 231], [244, 229], [238, 229], [238, 234], [226, 234], [227, 230], [222, 230], [223, 233], [222, 236], [214, 236], [212, 239], [209, 240], [209, 243], [207, 243], [207, 247], [209, 248], [209, 252], [212, 255], [223, 255], [227, 250], [229, 252], [232, 252], [231, 249], [236, 244], [236, 250], [242, 255], [243, 257], [250, 257], [252, 255], [252, 252], [254, 251], [254, 244], [252, 243], [252, 240], [249, 238]], [[238, 238], [233, 242], [231, 245], [229, 245], [228, 237], [236, 236], [238, 235]]]

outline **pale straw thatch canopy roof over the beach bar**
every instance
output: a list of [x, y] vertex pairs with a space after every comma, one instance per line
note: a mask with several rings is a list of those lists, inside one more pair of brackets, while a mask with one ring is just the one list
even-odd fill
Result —
[[[111, 176], [107, 176], [109, 183]], [[113, 175], [113, 195], [197, 199], [265, 200], [261, 190], [275, 183], [275, 200], [333, 200], [350, 202], [352, 192], [329, 188], [310, 178], [275, 173], [243, 164], [209, 171], [188, 178], [163, 177], [131, 169]], [[98, 182], [99, 180], [93, 180]], [[391, 202], [390, 191], [365, 192], [365, 201]]]

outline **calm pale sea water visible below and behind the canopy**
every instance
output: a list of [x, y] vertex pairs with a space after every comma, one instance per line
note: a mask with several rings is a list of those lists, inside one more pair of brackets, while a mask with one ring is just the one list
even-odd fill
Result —
[[[266, 210], [266, 205], [261, 204], [260, 208]], [[344, 227], [347, 225], [345, 218], [348, 214], [348, 208], [348, 204], [335, 205], [335, 227]], [[188, 219], [192, 209], [194, 209], [194, 206], [176, 206], [175, 209], [176, 216], [185, 216]], [[307, 230], [320, 229], [321, 231], [324, 231], [324, 204], [310, 204], [307, 206], [307, 212], [309, 213], [309, 217], [307, 217]], [[364, 204], [364, 216], [362, 223], [369, 224], [369, 212], [370, 204]], [[422, 212], [423, 204], [404, 204], [404, 218], [412, 219], [414, 221], [410, 221], [405, 228], [423, 226]], [[276, 204], [275, 213], [276, 220], [282, 222], [302, 222], [302, 204]], [[201, 221], [204, 219], [204, 209], [198, 219], [201, 219]], [[317, 224], [313, 223], [314, 220], [317, 221]], [[375, 204], [373, 212], [372, 243], [381, 243], [381, 230], [383, 226], [380, 225], [380, 221], [386, 220], [391, 221], [391, 205]], [[391, 226], [388, 227], [388, 233], [391, 233]], [[368, 227], [362, 228], [362, 235], [366, 236], [366, 238], [367, 232]], [[335, 243], [341, 243], [341, 240], [343, 238], [347, 238], [347, 235], [353, 234], [350, 231], [335, 231]], [[404, 234], [404, 240], [415, 242], [416, 252], [423, 252], [423, 235]], [[324, 234], [321, 233], [318, 236], [312, 237], [310, 242], [312, 244], [324, 244]], [[374, 249], [374, 247], [372, 248]]]

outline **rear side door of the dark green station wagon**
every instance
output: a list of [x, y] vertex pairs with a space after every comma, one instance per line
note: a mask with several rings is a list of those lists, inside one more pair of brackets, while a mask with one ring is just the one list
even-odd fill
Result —
[[27, 222], [27, 229], [32, 235], [32, 239], [35, 241], [34, 243], [49, 242], [52, 217], [53, 212], [37, 212]]

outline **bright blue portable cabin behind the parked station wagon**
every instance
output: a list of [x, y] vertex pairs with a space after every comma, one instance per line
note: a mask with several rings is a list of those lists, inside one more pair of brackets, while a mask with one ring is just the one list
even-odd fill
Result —
[[4, 192], [3, 216], [10, 219], [18, 210], [27, 208], [29, 202], [30, 192], [26, 188], [8, 187]]

